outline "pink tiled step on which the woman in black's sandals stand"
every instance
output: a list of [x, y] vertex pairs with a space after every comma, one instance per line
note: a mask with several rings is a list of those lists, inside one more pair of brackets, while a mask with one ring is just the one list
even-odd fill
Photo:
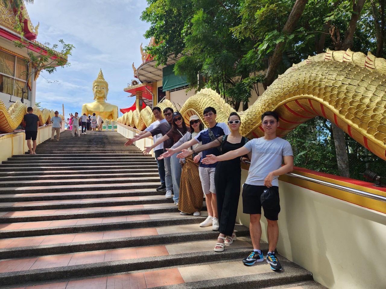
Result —
[[[175, 219], [173, 221], [175, 221]], [[176, 233], [178, 227], [182, 227], [185, 232]], [[236, 224], [235, 231], [240, 240], [244, 240], [243, 236], [249, 235], [249, 229], [242, 225]], [[31, 256], [180, 244], [203, 240], [209, 240], [212, 246], [214, 246], [217, 237], [217, 231], [213, 231], [208, 227], [200, 228], [198, 224], [193, 223], [189, 225], [169, 226], [169, 228], [166, 227], [163, 230], [160, 228], [137, 228], [2, 239], [0, 240], [0, 244], [2, 244], [0, 254], [2, 255], [2, 259], [20, 259]], [[252, 247], [250, 247], [249, 250], [251, 250], [251, 248]], [[248, 253], [250, 252], [251, 251]]]

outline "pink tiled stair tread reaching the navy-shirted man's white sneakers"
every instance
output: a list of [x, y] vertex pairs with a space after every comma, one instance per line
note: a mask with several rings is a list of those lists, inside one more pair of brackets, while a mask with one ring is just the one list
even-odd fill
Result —
[[[201, 215], [201, 217], [207, 217], [207, 213]], [[148, 215], [123, 215], [117, 217], [101, 217], [101, 218], [87, 218], [87, 219], [70, 219], [70, 220], [55, 220], [55, 221], [40, 221], [40, 222], [20, 222], [20, 223], [2, 223], [0, 224], [1, 230], [25, 230], [25, 229], [51, 229], [54, 227], [63, 226], [77, 226], [77, 225], [93, 225], [103, 223], [117, 223], [117, 222], [132, 222], [139, 220], [163, 220], [170, 219], [175, 220], [179, 218], [190, 218], [192, 215], [180, 215], [179, 213], [160, 213], [160, 214], [148, 214]], [[197, 217], [195, 217], [197, 218]], [[167, 222], [170, 222], [167, 220]], [[200, 219], [196, 219], [198, 221]], [[197, 222], [198, 222], [197, 221]], [[163, 221], [165, 222], [165, 221]], [[1, 233], [1, 231], [0, 231]], [[6, 235], [8, 238], [8, 236]]]

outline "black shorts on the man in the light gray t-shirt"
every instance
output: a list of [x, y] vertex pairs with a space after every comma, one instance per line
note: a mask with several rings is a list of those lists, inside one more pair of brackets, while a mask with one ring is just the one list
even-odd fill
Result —
[[[263, 191], [266, 189], [266, 186], [254, 186], [244, 184], [242, 189], [242, 207], [243, 213], [245, 214], [261, 214], [261, 202], [260, 196]], [[279, 198], [279, 187], [273, 186], [271, 189], [278, 196], [278, 204], [273, 208], [264, 208], [264, 217], [268, 220], [276, 221], [278, 220], [279, 212], [280, 212], [280, 198]]]

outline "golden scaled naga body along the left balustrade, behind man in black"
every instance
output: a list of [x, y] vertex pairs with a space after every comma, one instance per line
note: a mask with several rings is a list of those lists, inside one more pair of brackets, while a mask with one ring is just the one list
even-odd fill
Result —
[[[39, 117], [39, 126], [48, 123], [55, 116], [53, 110], [45, 108], [41, 111], [37, 106], [33, 108], [34, 114]], [[4, 102], [0, 99], [0, 132], [12, 133], [22, 123], [26, 113], [27, 106], [24, 103], [17, 101], [7, 109]], [[63, 115], [59, 114], [59, 116], [64, 120]]]

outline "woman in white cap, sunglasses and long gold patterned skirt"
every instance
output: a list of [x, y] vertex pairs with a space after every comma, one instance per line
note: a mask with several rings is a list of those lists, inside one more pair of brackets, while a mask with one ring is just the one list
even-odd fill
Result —
[[[173, 148], [177, 148], [186, 141], [190, 141], [192, 138], [197, 136], [201, 130], [203, 130], [203, 125], [198, 116], [192, 115], [189, 119], [189, 123], [190, 131], [171, 147], [171, 150], [169, 150], [171, 155], [174, 154]], [[195, 148], [197, 145], [198, 144], [193, 146], [193, 148]], [[163, 157], [163, 155], [160, 157]], [[200, 159], [201, 155], [195, 154], [181, 160], [182, 173], [181, 181], [179, 184], [178, 200], [178, 210], [181, 211], [181, 215], [193, 213], [193, 216], [200, 216], [204, 196], [201, 187], [200, 176], [198, 175]]]

